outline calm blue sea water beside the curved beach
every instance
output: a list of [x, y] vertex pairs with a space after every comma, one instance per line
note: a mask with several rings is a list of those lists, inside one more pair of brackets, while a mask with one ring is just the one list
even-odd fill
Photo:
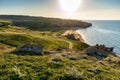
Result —
[[87, 29], [78, 29], [85, 42], [90, 45], [105, 44], [115, 47], [114, 52], [120, 55], [120, 20], [87, 21], [93, 24]]

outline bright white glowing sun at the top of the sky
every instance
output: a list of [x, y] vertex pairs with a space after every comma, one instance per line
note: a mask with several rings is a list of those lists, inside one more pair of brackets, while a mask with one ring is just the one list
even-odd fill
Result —
[[68, 13], [76, 12], [81, 6], [82, 0], [59, 0], [61, 9]]

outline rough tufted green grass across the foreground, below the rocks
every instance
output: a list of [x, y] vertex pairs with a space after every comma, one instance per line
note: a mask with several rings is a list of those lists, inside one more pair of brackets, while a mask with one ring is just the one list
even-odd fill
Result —
[[[99, 63], [82, 54], [51, 54], [47, 56], [18, 56], [0, 54], [0, 80], [119, 80], [120, 65]], [[71, 60], [74, 57], [76, 60]], [[111, 58], [109, 58], [111, 59]], [[6, 75], [7, 74], [7, 75]]]

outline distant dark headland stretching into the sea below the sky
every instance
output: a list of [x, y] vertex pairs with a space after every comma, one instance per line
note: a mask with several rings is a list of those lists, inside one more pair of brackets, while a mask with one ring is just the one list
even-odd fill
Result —
[[0, 19], [11, 20], [13, 25], [26, 27], [39, 31], [60, 31], [71, 28], [87, 28], [92, 24], [80, 20], [69, 20], [59, 18], [21, 16], [21, 15], [0, 15]]

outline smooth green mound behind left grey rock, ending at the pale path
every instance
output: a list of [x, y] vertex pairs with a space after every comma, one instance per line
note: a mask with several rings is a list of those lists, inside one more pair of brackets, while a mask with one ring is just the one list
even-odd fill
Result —
[[37, 43], [44, 46], [45, 50], [55, 50], [58, 47], [68, 47], [68, 43], [55, 38], [36, 38], [30, 35], [22, 34], [0, 34], [0, 42], [10, 46], [18, 47], [26, 43]]

